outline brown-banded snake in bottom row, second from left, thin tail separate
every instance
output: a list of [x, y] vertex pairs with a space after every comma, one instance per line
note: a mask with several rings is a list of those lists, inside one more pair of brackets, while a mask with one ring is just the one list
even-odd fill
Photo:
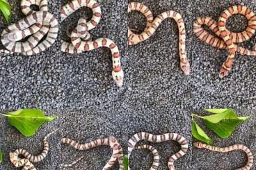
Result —
[[[92, 142], [88, 142], [86, 144], [80, 144], [79, 142], [76, 142], [73, 139], [63, 137], [61, 139], [61, 143], [69, 144], [74, 148], [76, 148], [77, 150], [88, 150], [90, 148], [95, 148], [96, 146], [100, 146], [100, 145], [110, 146], [113, 150], [113, 153], [111, 155], [111, 159], [103, 167], [103, 170], [111, 169], [113, 164], [115, 164], [116, 160], [118, 160], [118, 163], [119, 163], [119, 170], [125, 170], [124, 166], [122, 165], [122, 159], [123, 159], [122, 147], [120, 146], [118, 139], [116, 139], [113, 136], [110, 136], [108, 138], [95, 139]], [[81, 156], [78, 160], [75, 160], [70, 164], [61, 164], [61, 167], [72, 167], [74, 164], [79, 162], [79, 160], [81, 160], [82, 158], [83, 156]]]

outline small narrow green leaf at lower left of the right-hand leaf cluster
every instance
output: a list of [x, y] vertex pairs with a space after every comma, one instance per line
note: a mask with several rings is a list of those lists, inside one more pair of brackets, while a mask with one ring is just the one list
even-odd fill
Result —
[[207, 136], [207, 134], [196, 124], [194, 120], [192, 120], [192, 135], [195, 139], [198, 139], [207, 144], [211, 144], [211, 139]]

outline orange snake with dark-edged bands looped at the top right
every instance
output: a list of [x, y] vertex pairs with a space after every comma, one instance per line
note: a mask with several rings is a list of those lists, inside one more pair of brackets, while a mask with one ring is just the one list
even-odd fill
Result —
[[[227, 29], [227, 19], [232, 15], [239, 14], [246, 17], [248, 20], [247, 28], [239, 33], [233, 33]], [[202, 26], [208, 26], [209, 29], [216, 35], [211, 35], [209, 32], [205, 31]], [[226, 49], [228, 51], [228, 56], [219, 72], [219, 76], [223, 78], [227, 76], [231, 69], [232, 63], [234, 61], [235, 53], [241, 53], [248, 56], [256, 56], [256, 49], [249, 50], [243, 48], [236, 43], [246, 42], [253, 37], [256, 31], [256, 16], [255, 13], [246, 6], [236, 5], [230, 6], [224, 10], [218, 22], [216, 22], [211, 17], [197, 17], [193, 23], [193, 32], [200, 40], [206, 42], [207, 44], [217, 47], [219, 49]], [[256, 47], [256, 46], [255, 46]]]

